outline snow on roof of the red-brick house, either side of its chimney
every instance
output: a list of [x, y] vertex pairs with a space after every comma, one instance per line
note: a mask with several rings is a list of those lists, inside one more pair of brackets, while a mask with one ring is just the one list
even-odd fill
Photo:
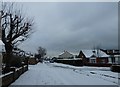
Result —
[[[93, 55], [93, 50], [82, 50], [82, 51], [86, 57], [91, 57]], [[97, 50], [94, 50], [94, 51], [95, 51], [95, 54], [97, 57], [98, 56], [99, 57], [109, 57], [109, 55], [107, 55], [106, 53], [104, 53], [100, 50], [98, 50], [98, 55], [97, 55]]]

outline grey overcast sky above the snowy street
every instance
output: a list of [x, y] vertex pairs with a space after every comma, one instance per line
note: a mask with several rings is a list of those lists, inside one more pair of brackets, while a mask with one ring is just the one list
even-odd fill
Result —
[[32, 53], [38, 46], [50, 56], [64, 50], [118, 47], [117, 2], [24, 2], [29, 17], [34, 17], [34, 33], [19, 47]]

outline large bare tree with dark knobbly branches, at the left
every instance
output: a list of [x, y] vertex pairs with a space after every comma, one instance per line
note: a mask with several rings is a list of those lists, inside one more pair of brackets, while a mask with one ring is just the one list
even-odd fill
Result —
[[[33, 25], [33, 20], [23, 16], [22, 10], [17, 9], [15, 4], [3, 3], [0, 11], [2, 16], [2, 41], [5, 44], [5, 50], [9, 58], [13, 48], [31, 35]], [[8, 61], [6, 62], [9, 64]]]

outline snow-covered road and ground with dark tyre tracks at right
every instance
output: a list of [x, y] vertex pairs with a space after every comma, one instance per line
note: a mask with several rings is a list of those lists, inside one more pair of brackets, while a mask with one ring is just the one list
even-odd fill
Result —
[[108, 67], [75, 67], [59, 63], [29, 65], [11, 85], [118, 85], [118, 73]]

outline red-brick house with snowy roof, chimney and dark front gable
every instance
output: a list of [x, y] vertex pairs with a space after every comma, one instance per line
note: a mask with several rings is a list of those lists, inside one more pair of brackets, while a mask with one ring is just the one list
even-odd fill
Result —
[[83, 63], [107, 64], [109, 55], [100, 50], [82, 50], [78, 57], [82, 58]]

